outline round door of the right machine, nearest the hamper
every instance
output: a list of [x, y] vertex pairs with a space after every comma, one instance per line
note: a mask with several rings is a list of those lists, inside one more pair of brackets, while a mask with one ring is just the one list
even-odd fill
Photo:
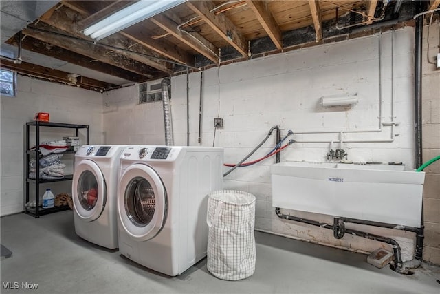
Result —
[[134, 164], [120, 178], [118, 215], [131, 238], [146, 241], [164, 227], [168, 203], [159, 175], [148, 165]]

